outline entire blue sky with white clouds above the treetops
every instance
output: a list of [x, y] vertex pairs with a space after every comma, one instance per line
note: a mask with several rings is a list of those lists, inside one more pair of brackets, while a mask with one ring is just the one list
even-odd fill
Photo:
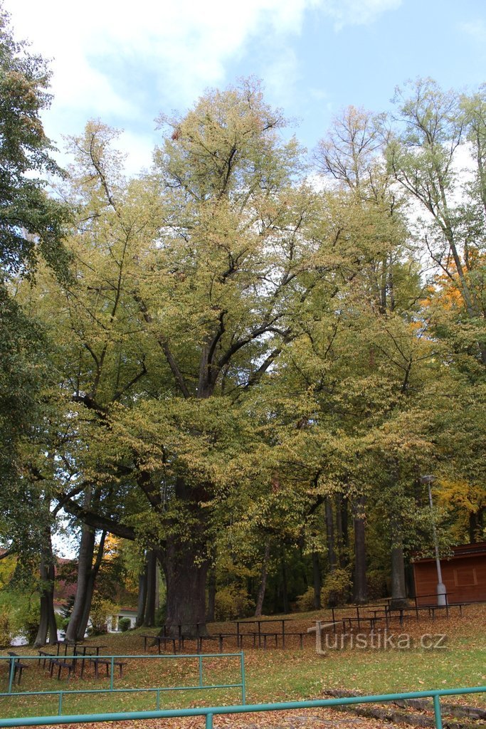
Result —
[[52, 59], [47, 133], [101, 118], [125, 130], [130, 171], [148, 166], [160, 112], [207, 87], [262, 79], [312, 149], [354, 104], [391, 107], [404, 80], [486, 81], [485, 0], [4, 0], [17, 39]]

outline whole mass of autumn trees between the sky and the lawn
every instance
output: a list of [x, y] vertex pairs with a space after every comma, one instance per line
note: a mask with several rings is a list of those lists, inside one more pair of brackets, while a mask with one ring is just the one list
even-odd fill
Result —
[[246, 79], [128, 178], [100, 121], [58, 168], [48, 86], [2, 15], [4, 631], [56, 639], [60, 532], [71, 638], [123, 580], [153, 625], [157, 564], [190, 634], [398, 599], [434, 525], [485, 539], [486, 88], [409, 82], [307, 153]]

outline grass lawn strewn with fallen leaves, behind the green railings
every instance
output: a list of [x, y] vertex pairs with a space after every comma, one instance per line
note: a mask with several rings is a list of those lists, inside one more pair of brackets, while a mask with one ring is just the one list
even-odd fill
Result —
[[[287, 623], [288, 631], [307, 631], [313, 620], [329, 619], [326, 611], [291, 615]], [[215, 624], [211, 632], [234, 631], [234, 625]], [[278, 626], [268, 627], [278, 630]], [[106, 647], [105, 655], [141, 655], [144, 641], [141, 634], [151, 632], [146, 629], [129, 631], [125, 634], [111, 634], [93, 639]], [[157, 631], [152, 631], [157, 632]], [[363, 631], [364, 632], [364, 631]], [[329, 650], [325, 656], [315, 653], [313, 636], [306, 636], [304, 649], [299, 649], [299, 639], [286, 639], [286, 649], [267, 647], [267, 650], [254, 649], [248, 641], [245, 646], [246, 702], [272, 703], [275, 701], [297, 701], [305, 698], [323, 698], [326, 690], [357, 690], [362, 693], [397, 693], [401, 691], [427, 690], [486, 685], [486, 605], [466, 607], [463, 617], [457, 609], [452, 610], [450, 618], [436, 618], [432, 621], [422, 617], [419, 622], [410, 617], [399, 626], [394, 621], [385, 634], [385, 628], [378, 628], [373, 642], [361, 637], [361, 645], [354, 628], [351, 636], [338, 639], [334, 647], [334, 634], [329, 636]], [[439, 641], [440, 647], [422, 647], [422, 636], [426, 646]], [[385, 646], [385, 638], [388, 642]], [[216, 649], [206, 644], [205, 652]], [[49, 650], [49, 648], [47, 648]], [[195, 642], [188, 642], [186, 652], [195, 652]], [[225, 652], [236, 652], [235, 640], [225, 641]], [[23, 655], [36, 655], [28, 648], [18, 649]], [[154, 647], [150, 655], [156, 655]], [[199, 661], [197, 658], [125, 658], [124, 675], [119, 678], [115, 670], [114, 687], [174, 687], [197, 685], [199, 682]], [[2, 664], [4, 662], [2, 661]], [[101, 673], [103, 674], [103, 668]], [[7, 688], [7, 671], [0, 666], [0, 681]], [[93, 666], [85, 671], [85, 677], [77, 676], [70, 681], [50, 678], [47, 669], [32, 662], [22, 677], [20, 689], [34, 690], [93, 690], [109, 687], [109, 679], [101, 675], [93, 676]], [[206, 684], [227, 684], [240, 682], [240, 662], [238, 658], [203, 659], [203, 677]], [[241, 692], [238, 688], [198, 691], [169, 691], [161, 693], [160, 708], [183, 706], [216, 706], [219, 704], [240, 703]], [[476, 694], [461, 698], [451, 698], [456, 703], [474, 703], [485, 706], [486, 696]], [[120, 693], [117, 695], [82, 694], [63, 697], [63, 713], [89, 713], [147, 710], [156, 708], [153, 693]], [[1, 716], [22, 716], [55, 714], [58, 710], [58, 697], [17, 696], [0, 698]], [[259, 722], [262, 722], [259, 715]], [[219, 717], [219, 725], [224, 725]], [[173, 726], [179, 725], [173, 724]], [[138, 724], [137, 724], [138, 725]], [[232, 725], [235, 725], [234, 722]], [[99, 725], [98, 725], [99, 726]], [[106, 725], [108, 726], [108, 725]], [[111, 725], [113, 726], [113, 725]], [[128, 727], [128, 725], [123, 725]], [[135, 726], [133, 722], [130, 726]], [[142, 724], [141, 724], [142, 726]], [[145, 724], [145, 729], [149, 725]], [[198, 719], [195, 726], [203, 726]], [[120, 728], [122, 725], [120, 725]]]

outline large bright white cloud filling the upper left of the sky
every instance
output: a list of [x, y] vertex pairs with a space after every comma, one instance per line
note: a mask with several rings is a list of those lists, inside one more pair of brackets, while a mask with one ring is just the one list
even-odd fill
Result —
[[[401, 0], [4, 0], [17, 39], [52, 58], [52, 110], [47, 133], [79, 133], [90, 117], [144, 127], [137, 154], [152, 133], [147, 108], [184, 109], [205, 87], [227, 82], [230, 61], [248, 44], [270, 39], [281, 52], [267, 67], [267, 83], [284, 104], [297, 79], [289, 37], [300, 34], [305, 12], [324, 12], [335, 28], [369, 23]], [[275, 98], [275, 94], [273, 94]], [[157, 104], [153, 99], [157, 98]], [[160, 100], [163, 100], [161, 103]], [[152, 102], [152, 104], [151, 104]], [[144, 160], [148, 165], [149, 157]]]

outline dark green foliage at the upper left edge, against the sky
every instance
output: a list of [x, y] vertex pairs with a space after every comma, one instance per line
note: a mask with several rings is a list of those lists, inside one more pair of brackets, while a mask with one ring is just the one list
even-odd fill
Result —
[[50, 104], [50, 72], [25, 43], [15, 42], [8, 22], [0, 7], [0, 278], [32, 273], [39, 251], [65, 274], [60, 238], [67, 208], [47, 198], [45, 181], [34, 176], [60, 173], [41, 122]]

